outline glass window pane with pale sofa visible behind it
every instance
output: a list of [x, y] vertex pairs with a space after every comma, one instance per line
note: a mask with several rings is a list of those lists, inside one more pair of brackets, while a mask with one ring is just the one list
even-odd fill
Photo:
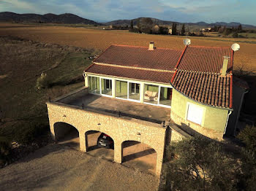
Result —
[[151, 104], [158, 103], [158, 90], [159, 86], [157, 85], [145, 85], [144, 87], [144, 102]]

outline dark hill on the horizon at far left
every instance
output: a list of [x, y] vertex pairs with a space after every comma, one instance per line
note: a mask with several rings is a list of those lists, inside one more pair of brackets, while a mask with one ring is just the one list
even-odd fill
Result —
[[61, 23], [61, 24], [99, 24], [94, 20], [88, 20], [78, 15], [65, 13], [55, 15], [48, 13], [45, 15], [39, 14], [17, 14], [15, 12], [0, 12], [0, 21], [2, 22], [17, 22], [17, 23]]

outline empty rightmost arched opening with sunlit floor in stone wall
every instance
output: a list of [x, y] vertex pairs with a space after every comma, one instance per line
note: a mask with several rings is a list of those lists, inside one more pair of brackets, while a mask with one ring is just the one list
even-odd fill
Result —
[[121, 147], [123, 152], [122, 163], [124, 165], [149, 171], [152, 174], [155, 173], [157, 152], [153, 148], [139, 141], [124, 141]]

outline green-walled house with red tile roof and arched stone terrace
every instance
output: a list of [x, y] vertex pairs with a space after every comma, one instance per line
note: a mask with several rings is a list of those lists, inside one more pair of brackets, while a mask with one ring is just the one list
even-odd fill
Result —
[[221, 140], [233, 134], [246, 92], [239, 85], [233, 88], [233, 57], [230, 47], [111, 45], [83, 72], [85, 87], [47, 103], [53, 138], [68, 131], [59, 124], [72, 125], [86, 152], [89, 131], [107, 133], [118, 163], [124, 142], [139, 141], [157, 152], [159, 175], [170, 141], [195, 134]]

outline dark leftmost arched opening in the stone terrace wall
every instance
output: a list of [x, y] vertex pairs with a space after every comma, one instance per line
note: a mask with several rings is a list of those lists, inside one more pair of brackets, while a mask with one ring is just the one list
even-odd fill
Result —
[[58, 141], [58, 144], [65, 144], [74, 149], [80, 149], [79, 132], [74, 126], [66, 122], [56, 122], [53, 127], [55, 140]]

